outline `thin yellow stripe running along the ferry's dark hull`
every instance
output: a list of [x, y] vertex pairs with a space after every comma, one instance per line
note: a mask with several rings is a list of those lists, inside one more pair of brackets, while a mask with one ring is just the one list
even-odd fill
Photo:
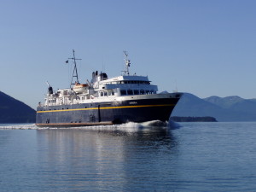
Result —
[[[113, 108], [151, 108], [151, 107], [170, 107], [170, 106], [175, 106], [175, 104], [132, 105], [132, 106], [119, 106], [119, 107], [100, 107], [100, 109], [113, 109]], [[37, 113], [64, 112], [64, 111], [84, 111], [84, 110], [97, 110], [97, 109], [99, 109], [99, 108], [73, 108], [73, 109], [38, 111]]]

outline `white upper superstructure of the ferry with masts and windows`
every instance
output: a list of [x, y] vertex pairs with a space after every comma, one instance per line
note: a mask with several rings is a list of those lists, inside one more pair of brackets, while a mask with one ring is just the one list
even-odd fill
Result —
[[[86, 84], [80, 84], [78, 73], [76, 71], [76, 58], [73, 51], [73, 59], [75, 67], [73, 77], [77, 81], [71, 83], [71, 88], [53, 91], [49, 85], [49, 91], [46, 95], [44, 106], [72, 105], [90, 102], [113, 102], [114, 100], [124, 100], [125, 98], [148, 98], [155, 97], [158, 88], [156, 85], [150, 84], [147, 76], [130, 75], [129, 67], [131, 61], [128, 60], [127, 52], [125, 52], [125, 71], [123, 74], [108, 79], [106, 73], [92, 73], [91, 81]], [[149, 96], [149, 97], [150, 97]], [[40, 104], [41, 105], [41, 104]]]

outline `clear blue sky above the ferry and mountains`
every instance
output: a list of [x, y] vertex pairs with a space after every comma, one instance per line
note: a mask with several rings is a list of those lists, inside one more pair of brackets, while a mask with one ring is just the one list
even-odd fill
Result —
[[131, 73], [159, 90], [256, 98], [256, 1], [44, 0], [0, 2], [0, 90], [36, 108], [45, 81], [67, 88], [93, 71]]

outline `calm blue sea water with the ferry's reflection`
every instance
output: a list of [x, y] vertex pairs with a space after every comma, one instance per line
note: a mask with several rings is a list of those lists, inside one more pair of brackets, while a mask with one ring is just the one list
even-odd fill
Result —
[[0, 191], [256, 191], [255, 143], [255, 122], [0, 125]]

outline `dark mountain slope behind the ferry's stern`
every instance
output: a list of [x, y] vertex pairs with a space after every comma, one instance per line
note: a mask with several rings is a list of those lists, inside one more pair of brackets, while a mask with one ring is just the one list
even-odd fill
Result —
[[0, 91], [0, 123], [34, 123], [36, 111]]

